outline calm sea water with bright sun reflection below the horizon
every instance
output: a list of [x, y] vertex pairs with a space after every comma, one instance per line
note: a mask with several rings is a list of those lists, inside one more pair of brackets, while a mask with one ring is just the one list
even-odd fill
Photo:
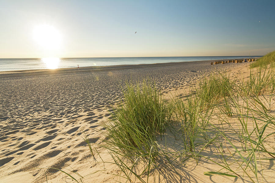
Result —
[[[250, 56], [261, 57], [261, 56]], [[112, 66], [124, 64], [150, 64], [167, 62], [189, 62], [216, 59], [242, 59], [249, 56], [192, 56], [192, 57], [109, 57], [109, 58], [31, 58], [0, 59], [0, 71], [56, 69], [85, 66]]]

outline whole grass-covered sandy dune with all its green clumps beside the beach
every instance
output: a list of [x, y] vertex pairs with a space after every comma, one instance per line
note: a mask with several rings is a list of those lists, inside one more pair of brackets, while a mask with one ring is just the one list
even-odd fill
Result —
[[[248, 77], [213, 73], [184, 97], [169, 101], [148, 81], [127, 83], [123, 100], [104, 124], [106, 140], [100, 146], [108, 150], [112, 161], [102, 162], [121, 170], [119, 182], [149, 182], [163, 164], [164, 169], [181, 176], [182, 164], [192, 160], [207, 160], [220, 167], [205, 171], [205, 176], [265, 181], [264, 163], [275, 160], [271, 143], [275, 134], [271, 112], [274, 53], [257, 60], [258, 65], [251, 66], [257, 68]], [[166, 144], [169, 131], [180, 142], [178, 149]]]

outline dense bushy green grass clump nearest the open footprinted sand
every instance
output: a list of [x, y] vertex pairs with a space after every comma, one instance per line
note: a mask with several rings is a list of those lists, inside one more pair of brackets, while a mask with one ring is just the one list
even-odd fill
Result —
[[150, 84], [127, 84], [124, 100], [114, 107], [104, 126], [108, 145], [127, 157], [149, 158], [158, 154], [156, 138], [162, 136], [171, 119], [171, 107]]

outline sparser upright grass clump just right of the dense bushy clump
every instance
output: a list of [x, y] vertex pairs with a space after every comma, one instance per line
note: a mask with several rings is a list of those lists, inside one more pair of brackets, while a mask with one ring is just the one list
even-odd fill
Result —
[[[204, 81], [207, 81], [207, 79]], [[199, 89], [199, 92], [185, 93], [184, 98], [176, 98], [172, 101], [175, 106], [174, 121], [180, 124], [178, 133], [182, 136], [182, 144], [184, 145], [185, 152], [189, 152], [192, 155], [196, 155], [199, 152], [197, 151], [197, 146], [200, 146], [209, 138], [205, 132], [213, 112], [213, 104], [211, 102], [216, 103], [214, 99], [211, 99], [211, 102], [206, 102], [209, 93], [201, 92], [205, 89], [201, 88], [206, 86], [204, 84], [192, 88], [192, 90], [197, 89], [197, 91]], [[215, 99], [217, 98], [215, 97]], [[194, 157], [196, 158], [196, 156]]]

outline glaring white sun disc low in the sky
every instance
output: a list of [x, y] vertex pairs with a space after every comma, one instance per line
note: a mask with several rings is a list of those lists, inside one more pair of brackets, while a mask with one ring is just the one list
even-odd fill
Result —
[[39, 25], [33, 30], [34, 40], [46, 49], [57, 49], [61, 44], [59, 31], [51, 25]]

